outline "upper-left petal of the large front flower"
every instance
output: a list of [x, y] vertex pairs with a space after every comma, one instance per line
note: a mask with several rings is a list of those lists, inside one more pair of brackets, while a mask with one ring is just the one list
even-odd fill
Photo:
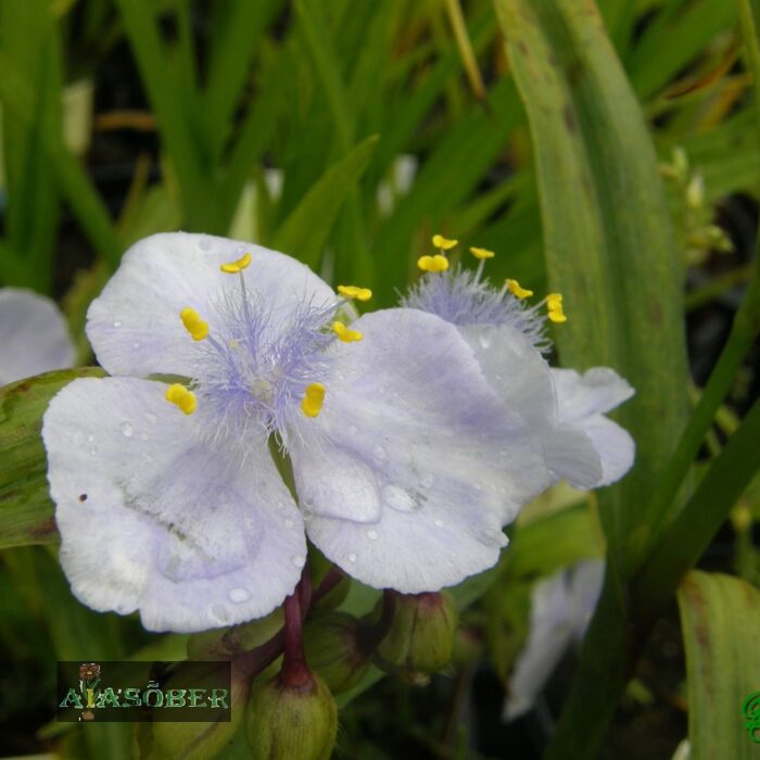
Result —
[[154, 235], [124, 254], [87, 314], [87, 335], [100, 364], [112, 375], [191, 376], [192, 339], [179, 313], [195, 309], [214, 334], [225, 296], [240, 291], [239, 276], [219, 266], [245, 252], [252, 256], [245, 287], [266, 302], [274, 320], [287, 322], [304, 303], [334, 303], [326, 282], [276, 251], [207, 235]]

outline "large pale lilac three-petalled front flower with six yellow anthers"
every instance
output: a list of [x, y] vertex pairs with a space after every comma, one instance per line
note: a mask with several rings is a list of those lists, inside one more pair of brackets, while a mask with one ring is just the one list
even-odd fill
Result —
[[154, 236], [124, 255], [87, 322], [113, 377], [68, 384], [42, 430], [85, 604], [139, 609], [151, 630], [250, 620], [292, 592], [305, 531], [404, 593], [496, 561], [502, 525], [548, 484], [540, 441], [453, 325], [409, 308], [347, 324], [370, 293], [338, 290], [223, 238]]

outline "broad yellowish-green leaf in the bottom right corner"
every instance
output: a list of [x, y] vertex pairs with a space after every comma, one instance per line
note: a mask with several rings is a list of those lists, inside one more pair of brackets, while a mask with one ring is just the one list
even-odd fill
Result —
[[760, 692], [760, 592], [731, 575], [694, 571], [679, 590], [679, 609], [691, 757], [756, 758], [742, 706]]

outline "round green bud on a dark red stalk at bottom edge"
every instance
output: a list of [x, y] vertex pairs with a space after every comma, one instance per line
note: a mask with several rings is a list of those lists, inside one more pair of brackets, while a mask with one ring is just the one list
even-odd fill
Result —
[[246, 722], [253, 760], [329, 760], [338, 708], [316, 673], [293, 686], [276, 675], [254, 683]]

